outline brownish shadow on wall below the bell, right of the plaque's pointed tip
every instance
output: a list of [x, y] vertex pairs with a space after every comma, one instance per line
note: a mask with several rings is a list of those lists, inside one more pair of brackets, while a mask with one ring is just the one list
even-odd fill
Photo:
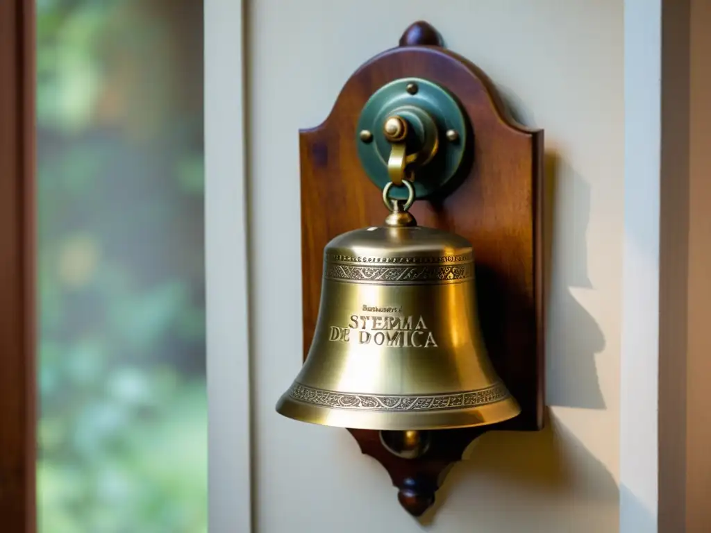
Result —
[[[510, 531], [617, 530], [619, 489], [614, 478], [550, 416], [543, 431], [485, 434], [464, 458], [420, 519], [425, 528], [435, 529], [442, 521], [453, 532], [498, 531], [506, 516]], [[553, 507], [551, 498], [557, 502]]]

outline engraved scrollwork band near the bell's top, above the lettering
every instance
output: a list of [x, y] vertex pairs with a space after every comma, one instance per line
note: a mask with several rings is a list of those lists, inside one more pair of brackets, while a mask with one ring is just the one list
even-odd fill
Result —
[[454, 265], [362, 266], [326, 263], [326, 279], [347, 281], [377, 281], [378, 283], [446, 283], [474, 276], [474, 263]]

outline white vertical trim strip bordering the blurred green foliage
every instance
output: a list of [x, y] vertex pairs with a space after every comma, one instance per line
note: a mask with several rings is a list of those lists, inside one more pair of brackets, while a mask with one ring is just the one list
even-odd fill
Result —
[[242, 0], [205, 0], [210, 533], [252, 529]]

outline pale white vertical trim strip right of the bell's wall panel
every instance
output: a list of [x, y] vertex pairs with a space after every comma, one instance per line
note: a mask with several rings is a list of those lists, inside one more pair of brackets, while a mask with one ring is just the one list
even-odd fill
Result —
[[662, 0], [625, 0], [620, 532], [658, 529]]

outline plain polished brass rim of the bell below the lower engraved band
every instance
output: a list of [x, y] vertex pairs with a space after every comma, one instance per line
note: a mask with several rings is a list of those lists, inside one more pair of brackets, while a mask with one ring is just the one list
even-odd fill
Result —
[[424, 431], [490, 426], [513, 419], [520, 414], [521, 408], [515, 398], [509, 395], [498, 402], [464, 409], [374, 413], [308, 404], [294, 399], [287, 392], [277, 402], [276, 411], [289, 419], [319, 426], [375, 431]]

